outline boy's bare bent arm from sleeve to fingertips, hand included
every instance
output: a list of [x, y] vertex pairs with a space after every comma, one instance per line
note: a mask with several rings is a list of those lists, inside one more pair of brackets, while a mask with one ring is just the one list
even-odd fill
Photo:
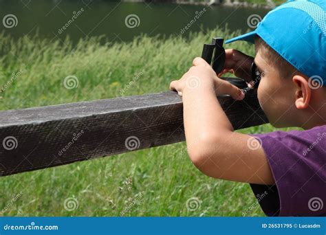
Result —
[[241, 99], [241, 90], [217, 78], [202, 58], [195, 58], [193, 65], [180, 80], [171, 82], [171, 89], [182, 93], [186, 143], [193, 164], [210, 177], [274, 184], [260, 143], [233, 132], [217, 100], [221, 93]]

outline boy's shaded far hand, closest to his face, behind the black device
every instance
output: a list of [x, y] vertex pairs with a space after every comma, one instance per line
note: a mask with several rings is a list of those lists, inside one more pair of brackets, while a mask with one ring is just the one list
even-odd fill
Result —
[[223, 70], [217, 76], [221, 77], [223, 74], [232, 73], [238, 78], [250, 82], [252, 80], [251, 64], [253, 61], [252, 56], [243, 54], [236, 49], [226, 49], [226, 62]]

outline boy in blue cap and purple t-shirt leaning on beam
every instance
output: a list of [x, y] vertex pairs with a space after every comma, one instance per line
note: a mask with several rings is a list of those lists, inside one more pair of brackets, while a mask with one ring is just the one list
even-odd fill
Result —
[[[204, 174], [247, 182], [268, 216], [326, 215], [326, 1], [287, 1], [253, 32], [232, 38], [254, 43], [255, 58], [226, 49], [220, 74], [202, 58], [171, 82], [182, 96], [188, 155]], [[275, 127], [303, 131], [245, 135], [233, 132], [217, 95], [244, 93], [218, 78], [231, 71], [260, 73], [258, 99]]]

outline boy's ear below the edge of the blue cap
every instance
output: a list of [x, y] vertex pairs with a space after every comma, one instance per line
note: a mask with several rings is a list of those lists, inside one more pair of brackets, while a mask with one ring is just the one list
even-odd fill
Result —
[[292, 81], [295, 85], [296, 109], [307, 109], [310, 98], [312, 97], [312, 89], [309, 87], [308, 80], [303, 76], [295, 75]]

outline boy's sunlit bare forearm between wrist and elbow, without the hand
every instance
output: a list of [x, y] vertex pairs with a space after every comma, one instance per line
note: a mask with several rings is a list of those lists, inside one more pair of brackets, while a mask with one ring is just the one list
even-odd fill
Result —
[[221, 140], [233, 131], [217, 100], [215, 87], [204, 86], [201, 89], [185, 89], [182, 95], [188, 155], [197, 168], [215, 154]]

